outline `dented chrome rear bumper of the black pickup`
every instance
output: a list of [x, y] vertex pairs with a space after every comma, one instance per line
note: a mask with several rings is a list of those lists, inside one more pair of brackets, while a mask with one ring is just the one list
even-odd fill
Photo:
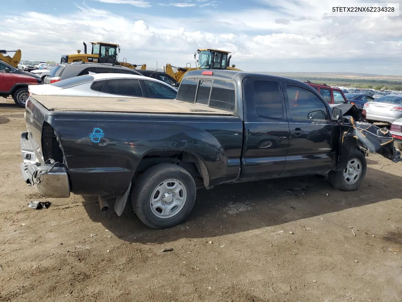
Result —
[[59, 164], [42, 164], [36, 161], [35, 153], [29, 143], [27, 133], [21, 134], [21, 174], [27, 184], [34, 186], [46, 197], [70, 197], [68, 171]]

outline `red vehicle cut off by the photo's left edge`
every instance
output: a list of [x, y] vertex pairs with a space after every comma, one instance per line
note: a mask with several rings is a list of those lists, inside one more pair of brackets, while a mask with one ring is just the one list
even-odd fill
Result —
[[0, 96], [12, 96], [14, 102], [25, 108], [29, 92], [28, 85], [43, 84], [41, 78], [29, 72], [20, 71], [0, 61]]

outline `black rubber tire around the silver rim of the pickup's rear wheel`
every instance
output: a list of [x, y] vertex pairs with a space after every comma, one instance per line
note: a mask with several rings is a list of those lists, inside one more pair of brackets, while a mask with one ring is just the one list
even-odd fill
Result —
[[[185, 198], [184, 205], [180, 206], [182, 208], [178, 207], [175, 210], [177, 213], [172, 212], [172, 217], [160, 218], [156, 215], [157, 213], [153, 212], [156, 210], [151, 208], [151, 197], [154, 190], [156, 190], [154, 196], [170, 194], [169, 191], [167, 193], [160, 193], [163, 190], [158, 191], [158, 188], [162, 188], [162, 184], [170, 179], [177, 180], [180, 185], [185, 187], [187, 198]], [[195, 203], [196, 192], [197, 188], [193, 176], [187, 170], [172, 163], [160, 163], [152, 166], [140, 176], [139, 180], [135, 183], [131, 203], [135, 214], [145, 225], [154, 229], [170, 228], [182, 222], [189, 215]]]

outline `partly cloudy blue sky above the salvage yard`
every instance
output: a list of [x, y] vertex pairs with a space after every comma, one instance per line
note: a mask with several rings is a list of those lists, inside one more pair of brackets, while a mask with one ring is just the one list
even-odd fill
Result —
[[59, 61], [100, 40], [119, 43], [120, 60], [149, 67], [194, 65], [197, 48], [218, 48], [246, 71], [402, 75], [402, 16], [328, 17], [329, 0], [12, 3], [2, 6], [0, 48], [27, 60]]

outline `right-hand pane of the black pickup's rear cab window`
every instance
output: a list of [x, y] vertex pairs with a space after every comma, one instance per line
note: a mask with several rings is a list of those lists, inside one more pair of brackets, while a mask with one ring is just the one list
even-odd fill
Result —
[[234, 112], [235, 101], [236, 96], [234, 93], [234, 85], [232, 83], [220, 80], [213, 81], [209, 107]]

